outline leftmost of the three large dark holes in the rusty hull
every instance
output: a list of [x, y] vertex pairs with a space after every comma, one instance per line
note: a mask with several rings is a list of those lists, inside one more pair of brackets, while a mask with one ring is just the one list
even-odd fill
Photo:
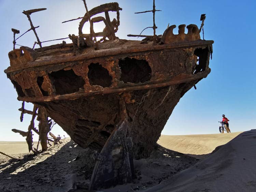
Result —
[[69, 94], [79, 91], [85, 84], [83, 77], [78, 76], [71, 70], [59, 70], [49, 74], [56, 94]]

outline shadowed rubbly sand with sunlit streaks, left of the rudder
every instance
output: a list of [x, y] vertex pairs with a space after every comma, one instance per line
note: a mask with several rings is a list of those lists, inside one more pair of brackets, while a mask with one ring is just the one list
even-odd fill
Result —
[[[74, 184], [86, 188], [95, 164], [89, 157], [90, 151], [76, 146], [72, 140], [63, 140], [37, 156], [3, 163], [0, 191], [67, 191]], [[79, 177], [83, 183], [75, 183]]]

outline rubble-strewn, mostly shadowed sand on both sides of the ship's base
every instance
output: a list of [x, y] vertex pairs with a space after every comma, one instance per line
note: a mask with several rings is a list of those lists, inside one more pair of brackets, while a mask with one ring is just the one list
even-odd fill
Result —
[[[9, 153], [20, 160], [10, 160], [0, 154], [2, 157], [0, 191], [88, 189], [95, 164], [95, 161], [90, 158], [93, 150], [77, 146], [70, 138], [61, 141], [62, 144], [49, 147], [47, 151], [37, 156], [31, 153]], [[22, 145], [21, 148], [24, 147], [24, 144], [20, 145]], [[11, 147], [12, 145], [9, 145], [9, 150], [13, 151]], [[194, 165], [197, 161], [196, 158], [157, 145], [157, 149], [152, 152], [150, 158], [134, 160], [137, 179], [134, 179], [132, 183], [104, 191], [130, 192], [153, 187]]]

